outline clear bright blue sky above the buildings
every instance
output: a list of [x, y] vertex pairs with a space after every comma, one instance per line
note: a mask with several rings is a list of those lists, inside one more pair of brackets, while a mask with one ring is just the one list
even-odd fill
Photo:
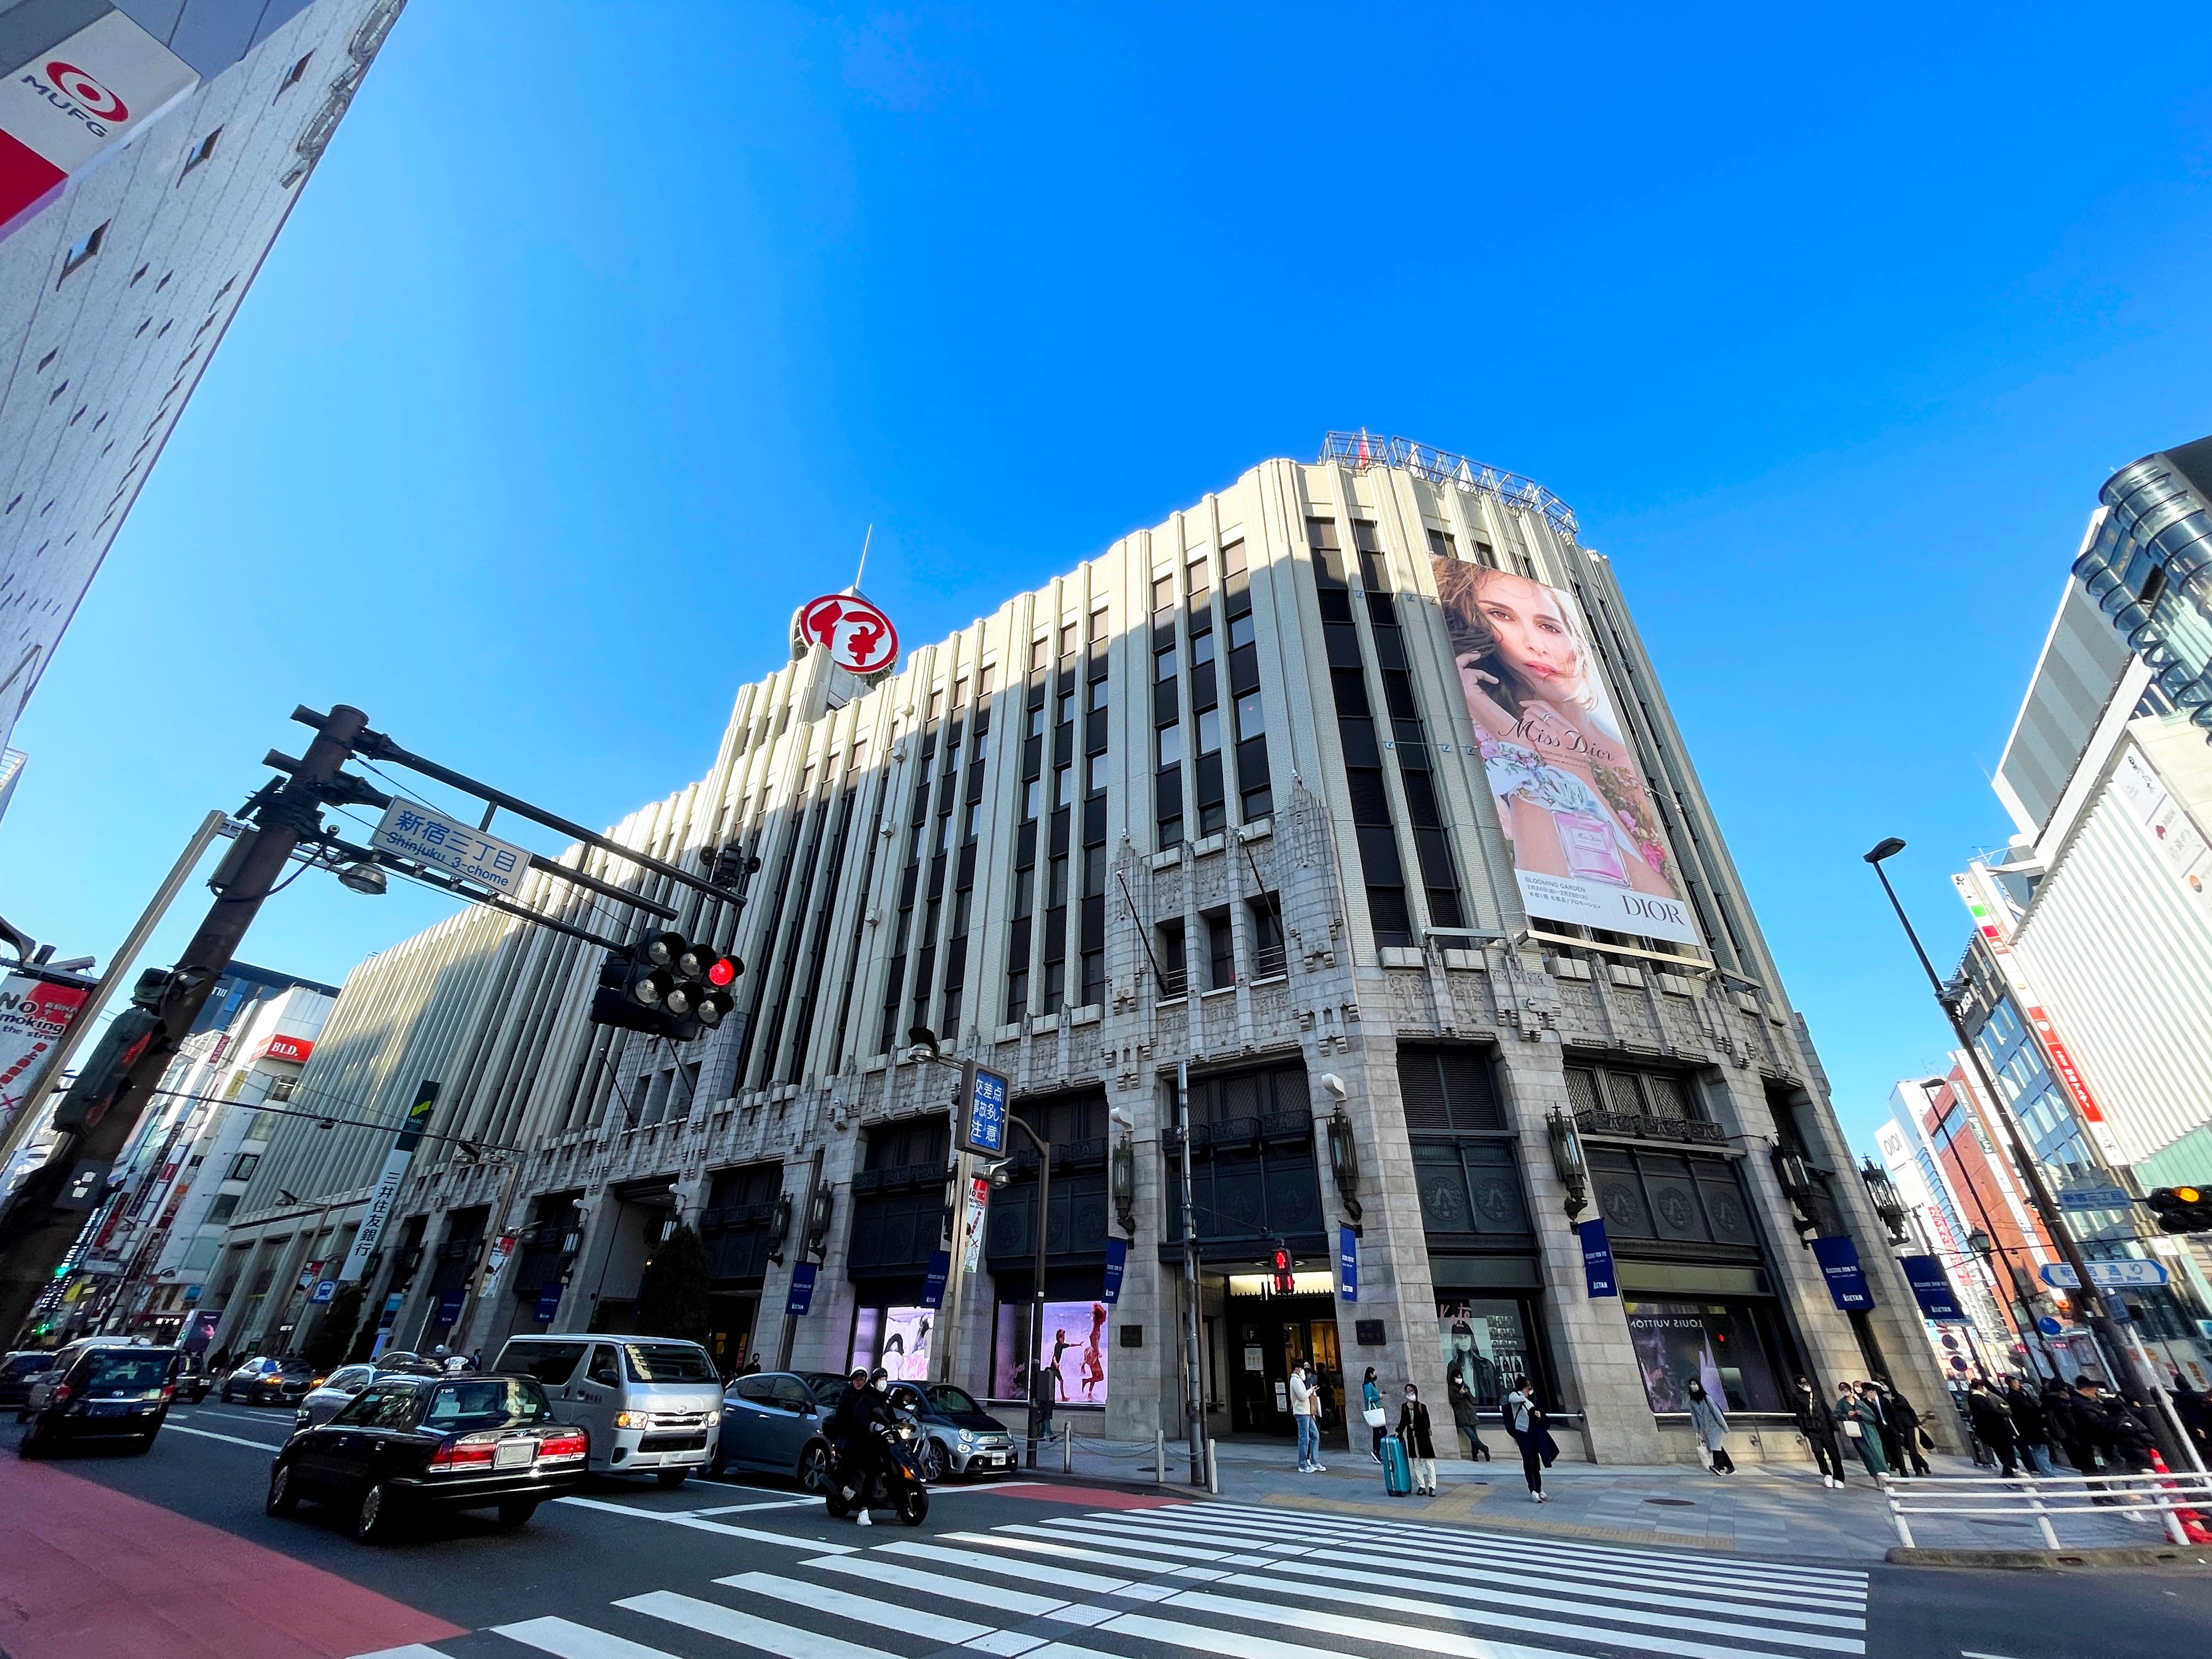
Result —
[[299, 701], [613, 821], [865, 524], [931, 639], [1369, 427], [1615, 560], [1865, 1139], [1947, 1031], [1858, 854], [1964, 942], [2097, 484], [2212, 431], [2208, 177], [2205, 77], [2057, 7], [416, 0], [18, 728], [4, 911], [104, 956]]

